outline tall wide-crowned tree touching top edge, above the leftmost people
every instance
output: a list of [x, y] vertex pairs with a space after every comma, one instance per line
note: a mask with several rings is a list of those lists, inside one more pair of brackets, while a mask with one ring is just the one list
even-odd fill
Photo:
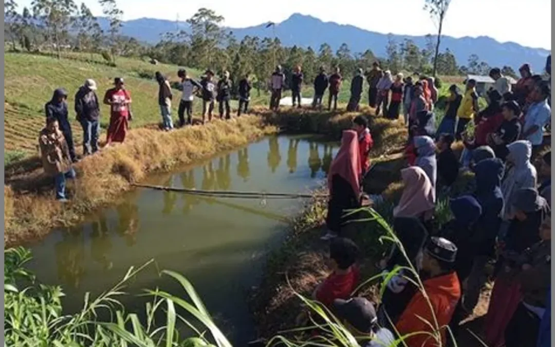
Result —
[[34, 17], [46, 26], [49, 39], [53, 42], [58, 59], [62, 57], [61, 46], [64, 36], [68, 34], [68, 27], [77, 12], [73, 0], [33, 0]]

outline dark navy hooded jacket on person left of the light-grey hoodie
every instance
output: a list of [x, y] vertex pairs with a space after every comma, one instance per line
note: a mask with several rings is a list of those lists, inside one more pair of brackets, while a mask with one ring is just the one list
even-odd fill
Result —
[[482, 214], [476, 223], [477, 255], [490, 255], [493, 251], [503, 209], [501, 179], [504, 165], [501, 159], [482, 160], [474, 167], [476, 173], [476, 192], [474, 196], [482, 207]]

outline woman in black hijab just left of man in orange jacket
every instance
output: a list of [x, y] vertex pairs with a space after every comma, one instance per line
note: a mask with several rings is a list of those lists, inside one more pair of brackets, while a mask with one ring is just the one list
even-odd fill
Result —
[[[420, 271], [422, 249], [428, 238], [428, 232], [424, 225], [417, 218], [398, 217], [393, 220], [393, 231], [403, 246], [410, 264], [401, 250], [394, 244], [391, 253], [381, 262], [385, 265], [382, 275], [387, 276], [395, 266], [412, 265], [416, 271]], [[391, 323], [393, 325], [397, 323], [397, 319], [405, 310], [408, 301], [416, 293], [416, 286], [407, 280], [406, 276], [415, 280], [412, 273], [400, 270], [386, 283], [378, 310], [378, 320], [381, 326], [388, 329], [391, 329]]]

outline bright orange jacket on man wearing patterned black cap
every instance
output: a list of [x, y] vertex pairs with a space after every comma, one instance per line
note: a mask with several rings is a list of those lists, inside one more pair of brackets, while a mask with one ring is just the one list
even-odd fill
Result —
[[[458, 300], [461, 298], [461, 285], [454, 271], [428, 279], [424, 281], [423, 285], [430, 299], [433, 313], [436, 316], [437, 325], [433, 319], [430, 305], [428, 305], [422, 293], [418, 291], [408, 303], [407, 308], [403, 311], [395, 326], [400, 336], [420, 331], [423, 332], [405, 339], [408, 347], [436, 347], [439, 345], [438, 341], [429, 335], [429, 333], [433, 333], [433, 330], [425, 321], [430, 322], [434, 328], [447, 326], [451, 321]], [[422, 321], [418, 316], [425, 321]], [[445, 346], [446, 328], [442, 328], [440, 334], [441, 345]]]

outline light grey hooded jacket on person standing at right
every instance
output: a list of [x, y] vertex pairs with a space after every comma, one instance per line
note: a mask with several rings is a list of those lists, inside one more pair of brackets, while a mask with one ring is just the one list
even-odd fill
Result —
[[501, 216], [508, 220], [514, 209], [511, 206], [514, 192], [522, 188], [536, 188], [537, 173], [534, 165], [530, 163], [532, 157], [532, 145], [526, 140], [519, 140], [507, 146], [509, 154], [507, 160], [513, 164], [509, 169], [501, 185], [503, 199], [505, 201]]

